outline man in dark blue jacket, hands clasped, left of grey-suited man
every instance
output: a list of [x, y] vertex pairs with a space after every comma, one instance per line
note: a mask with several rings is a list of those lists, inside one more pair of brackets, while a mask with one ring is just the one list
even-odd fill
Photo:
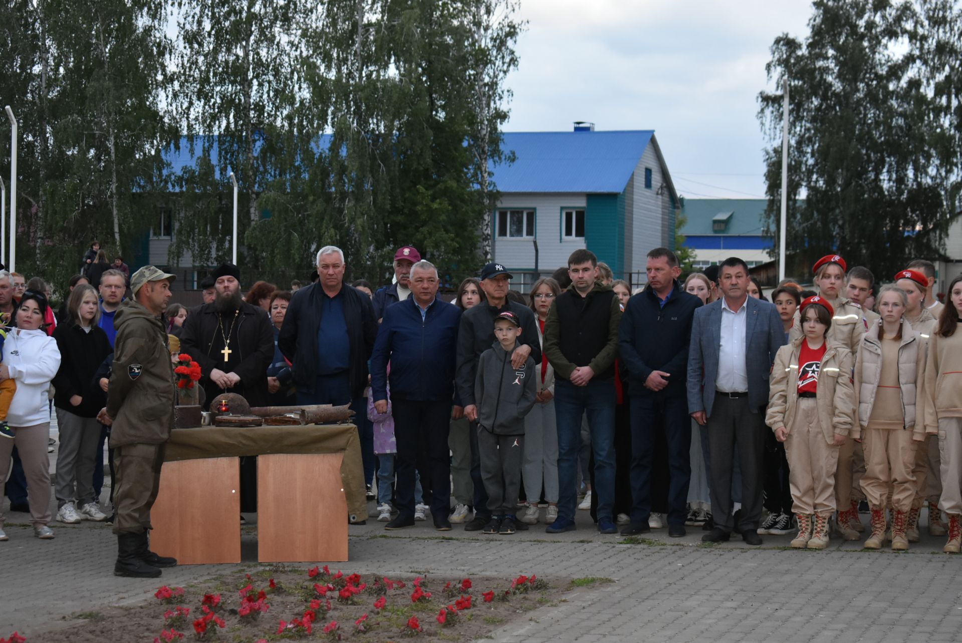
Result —
[[669, 535], [685, 535], [685, 504], [692, 476], [692, 425], [686, 374], [692, 319], [701, 299], [682, 291], [678, 257], [665, 247], [648, 252], [648, 285], [628, 299], [619, 329], [621, 364], [631, 399], [631, 524], [623, 535], [649, 530], [655, 441], [668, 443]]

